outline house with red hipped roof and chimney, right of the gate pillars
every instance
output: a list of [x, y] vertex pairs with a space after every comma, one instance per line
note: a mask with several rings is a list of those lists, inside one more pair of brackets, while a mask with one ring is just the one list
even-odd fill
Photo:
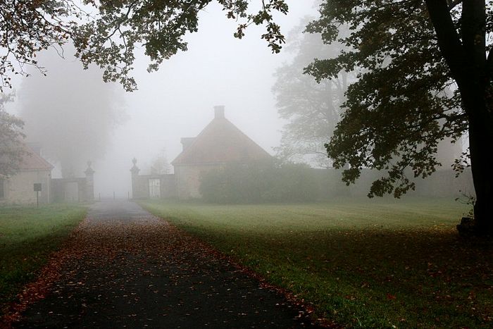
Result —
[[224, 106], [214, 106], [214, 118], [196, 137], [181, 139], [182, 153], [175, 168], [176, 194], [180, 199], [200, 197], [201, 175], [228, 163], [251, 163], [272, 156], [225, 118]]

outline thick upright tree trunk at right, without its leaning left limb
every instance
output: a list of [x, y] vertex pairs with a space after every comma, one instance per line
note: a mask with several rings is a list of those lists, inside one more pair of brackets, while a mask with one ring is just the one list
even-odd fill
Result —
[[465, 69], [459, 83], [469, 119], [470, 165], [476, 192], [475, 235], [493, 236], [493, 113], [489, 95], [492, 87], [486, 57], [485, 0], [464, 0], [461, 37], [466, 52]]

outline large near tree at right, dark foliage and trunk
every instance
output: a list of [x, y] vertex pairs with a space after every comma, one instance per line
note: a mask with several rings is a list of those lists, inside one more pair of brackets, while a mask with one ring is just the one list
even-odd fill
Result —
[[[435, 171], [440, 140], [468, 134], [476, 201], [473, 231], [493, 235], [493, 8], [485, 0], [326, 0], [307, 27], [353, 50], [306, 68], [317, 80], [358, 70], [342, 121], [326, 145], [343, 180], [386, 170], [370, 197], [414, 188]], [[339, 35], [349, 25], [351, 34]], [[454, 92], [447, 93], [451, 87]], [[466, 161], [467, 162], [467, 161]], [[459, 227], [461, 229], [463, 227]]]

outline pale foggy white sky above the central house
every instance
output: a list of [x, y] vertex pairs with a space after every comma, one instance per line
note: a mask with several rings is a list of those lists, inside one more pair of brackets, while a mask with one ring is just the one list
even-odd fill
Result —
[[[289, 14], [276, 18], [286, 36], [301, 17], [316, 13], [311, 0], [287, 3]], [[93, 161], [96, 197], [113, 192], [127, 197], [132, 158], [144, 171], [164, 148], [173, 161], [181, 151], [180, 137], [198, 135], [212, 120], [215, 105], [225, 105], [226, 118], [273, 154], [283, 125], [270, 91], [273, 73], [293, 54], [285, 49], [271, 54], [260, 37], [263, 27], [249, 27], [242, 40], [232, 36], [236, 27], [220, 6], [211, 4], [200, 14], [199, 32], [186, 38], [189, 50], [163, 62], [158, 72], [146, 72], [149, 62], [143, 49], [136, 55], [133, 75], [139, 90], [123, 94], [127, 120], [104, 143], [106, 154]], [[18, 88], [19, 82], [14, 83]], [[11, 106], [14, 113], [19, 112], [20, 97]]]

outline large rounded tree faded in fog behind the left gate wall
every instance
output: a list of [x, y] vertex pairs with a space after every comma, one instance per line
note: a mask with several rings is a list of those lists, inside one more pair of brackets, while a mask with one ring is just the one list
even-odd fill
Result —
[[[65, 45], [66, 54], [74, 52]], [[101, 81], [95, 66], [81, 70], [77, 61], [59, 61], [55, 51], [37, 58], [51, 74], [24, 79], [18, 89], [25, 133], [42, 144], [44, 156], [60, 164], [63, 178], [81, 175], [88, 160], [104, 156], [111, 132], [125, 119], [123, 91]]]

